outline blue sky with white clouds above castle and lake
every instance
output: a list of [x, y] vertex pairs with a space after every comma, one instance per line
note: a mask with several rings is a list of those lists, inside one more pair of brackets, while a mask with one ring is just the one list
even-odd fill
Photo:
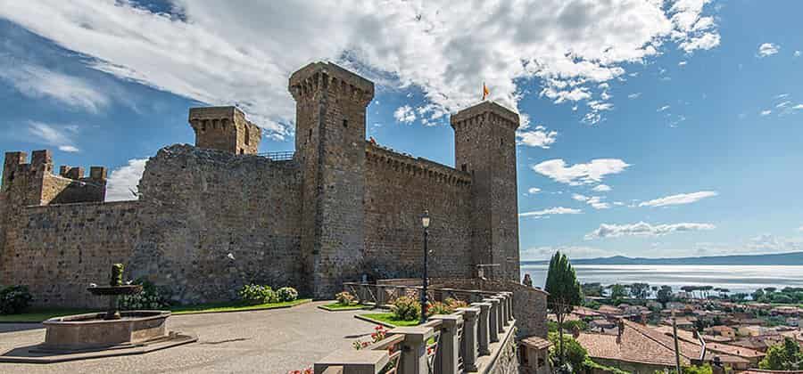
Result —
[[0, 150], [109, 167], [132, 199], [194, 142], [189, 107], [293, 150], [287, 79], [333, 61], [376, 84], [367, 136], [445, 165], [483, 83], [520, 113], [524, 260], [803, 250], [803, 3], [453, 3], [0, 0]]

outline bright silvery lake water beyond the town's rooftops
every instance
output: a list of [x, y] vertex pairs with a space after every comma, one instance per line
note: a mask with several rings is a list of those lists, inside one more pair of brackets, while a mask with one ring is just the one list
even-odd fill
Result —
[[[750, 293], [756, 289], [803, 287], [801, 265], [635, 265], [635, 264], [577, 264], [573, 265], [580, 283], [633, 284], [650, 286], [713, 286], [731, 292]], [[543, 287], [548, 264], [522, 264], [520, 277], [529, 273], [533, 285]]]

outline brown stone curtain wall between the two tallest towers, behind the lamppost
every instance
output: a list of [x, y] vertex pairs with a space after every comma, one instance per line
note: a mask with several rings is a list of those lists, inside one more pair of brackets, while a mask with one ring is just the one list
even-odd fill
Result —
[[471, 177], [426, 159], [366, 145], [365, 272], [420, 277], [421, 215], [429, 210], [429, 274], [471, 277]]

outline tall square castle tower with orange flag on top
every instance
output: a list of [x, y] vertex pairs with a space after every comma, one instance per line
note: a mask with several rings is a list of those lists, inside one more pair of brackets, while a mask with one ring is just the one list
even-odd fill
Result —
[[472, 175], [474, 264], [484, 275], [518, 281], [516, 129], [518, 114], [481, 102], [451, 116], [455, 167]]

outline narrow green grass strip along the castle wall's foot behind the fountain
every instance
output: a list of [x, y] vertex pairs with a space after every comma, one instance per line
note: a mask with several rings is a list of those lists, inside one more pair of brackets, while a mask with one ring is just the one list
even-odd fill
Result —
[[[192, 314], [192, 313], [226, 313], [261, 311], [267, 309], [286, 308], [295, 305], [309, 303], [310, 298], [302, 298], [294, 301], [281, 303], [267, 303], [258, 305], [248, 305], [240, 301], [227, 303], [208, 303], [196, 305], [177, 305], [170, 307], [173, 314]], [[84, 314], [84, 313], [103, 313], [103, 308], [97, 309], [30, 309], [27, 313], [20, 314], [0, 314], [0, 323], [38, 323], [54, 317], [64, 315]]]

